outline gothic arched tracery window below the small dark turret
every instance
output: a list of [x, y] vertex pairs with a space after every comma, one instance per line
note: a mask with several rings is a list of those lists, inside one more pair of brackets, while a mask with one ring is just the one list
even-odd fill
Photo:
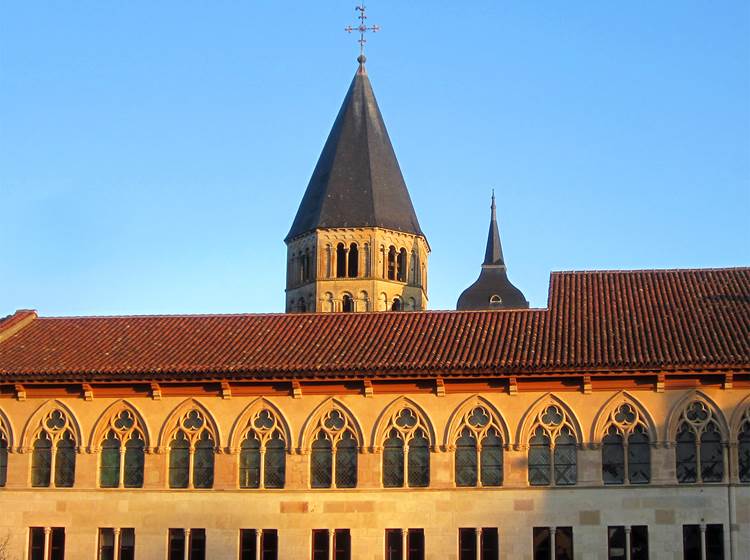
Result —
[[477, 406], [462, 420], [456, 439], [456, 486], [500, 486], [503, 483], [503, 439], [488, 410]]

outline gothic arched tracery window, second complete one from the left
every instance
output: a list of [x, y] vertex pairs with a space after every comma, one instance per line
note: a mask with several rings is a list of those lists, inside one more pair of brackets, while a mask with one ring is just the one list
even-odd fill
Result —
[[130, 410], [120, 410], [109, 420], [101, 443], [99, 486], [140, 488], [143, 486], [145, 443], [143, 430]]

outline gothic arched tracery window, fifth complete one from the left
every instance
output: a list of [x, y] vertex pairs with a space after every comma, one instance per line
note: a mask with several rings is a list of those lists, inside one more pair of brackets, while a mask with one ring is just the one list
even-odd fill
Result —
[[346, 415], [333, 409], [321, 418], [310, 455], [310, 486], [357, 486], [358, 445]]

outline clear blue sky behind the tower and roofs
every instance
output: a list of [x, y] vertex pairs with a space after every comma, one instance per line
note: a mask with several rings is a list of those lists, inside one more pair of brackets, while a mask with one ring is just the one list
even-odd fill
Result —
[[[0, 316], [279, 312], [356, 70], [353, 0], [0, 0]], [[430, 308], [511, 280], [750, 264], [750, 2], [372, 0], [368, 72]]]

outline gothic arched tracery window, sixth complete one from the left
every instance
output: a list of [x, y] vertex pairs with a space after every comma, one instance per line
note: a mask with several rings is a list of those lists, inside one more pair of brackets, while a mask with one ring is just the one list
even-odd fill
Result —
[[391, 419], [383, 442], [383, 486], [430, 485], [430, 444], [427, 427], [411, 408]]

